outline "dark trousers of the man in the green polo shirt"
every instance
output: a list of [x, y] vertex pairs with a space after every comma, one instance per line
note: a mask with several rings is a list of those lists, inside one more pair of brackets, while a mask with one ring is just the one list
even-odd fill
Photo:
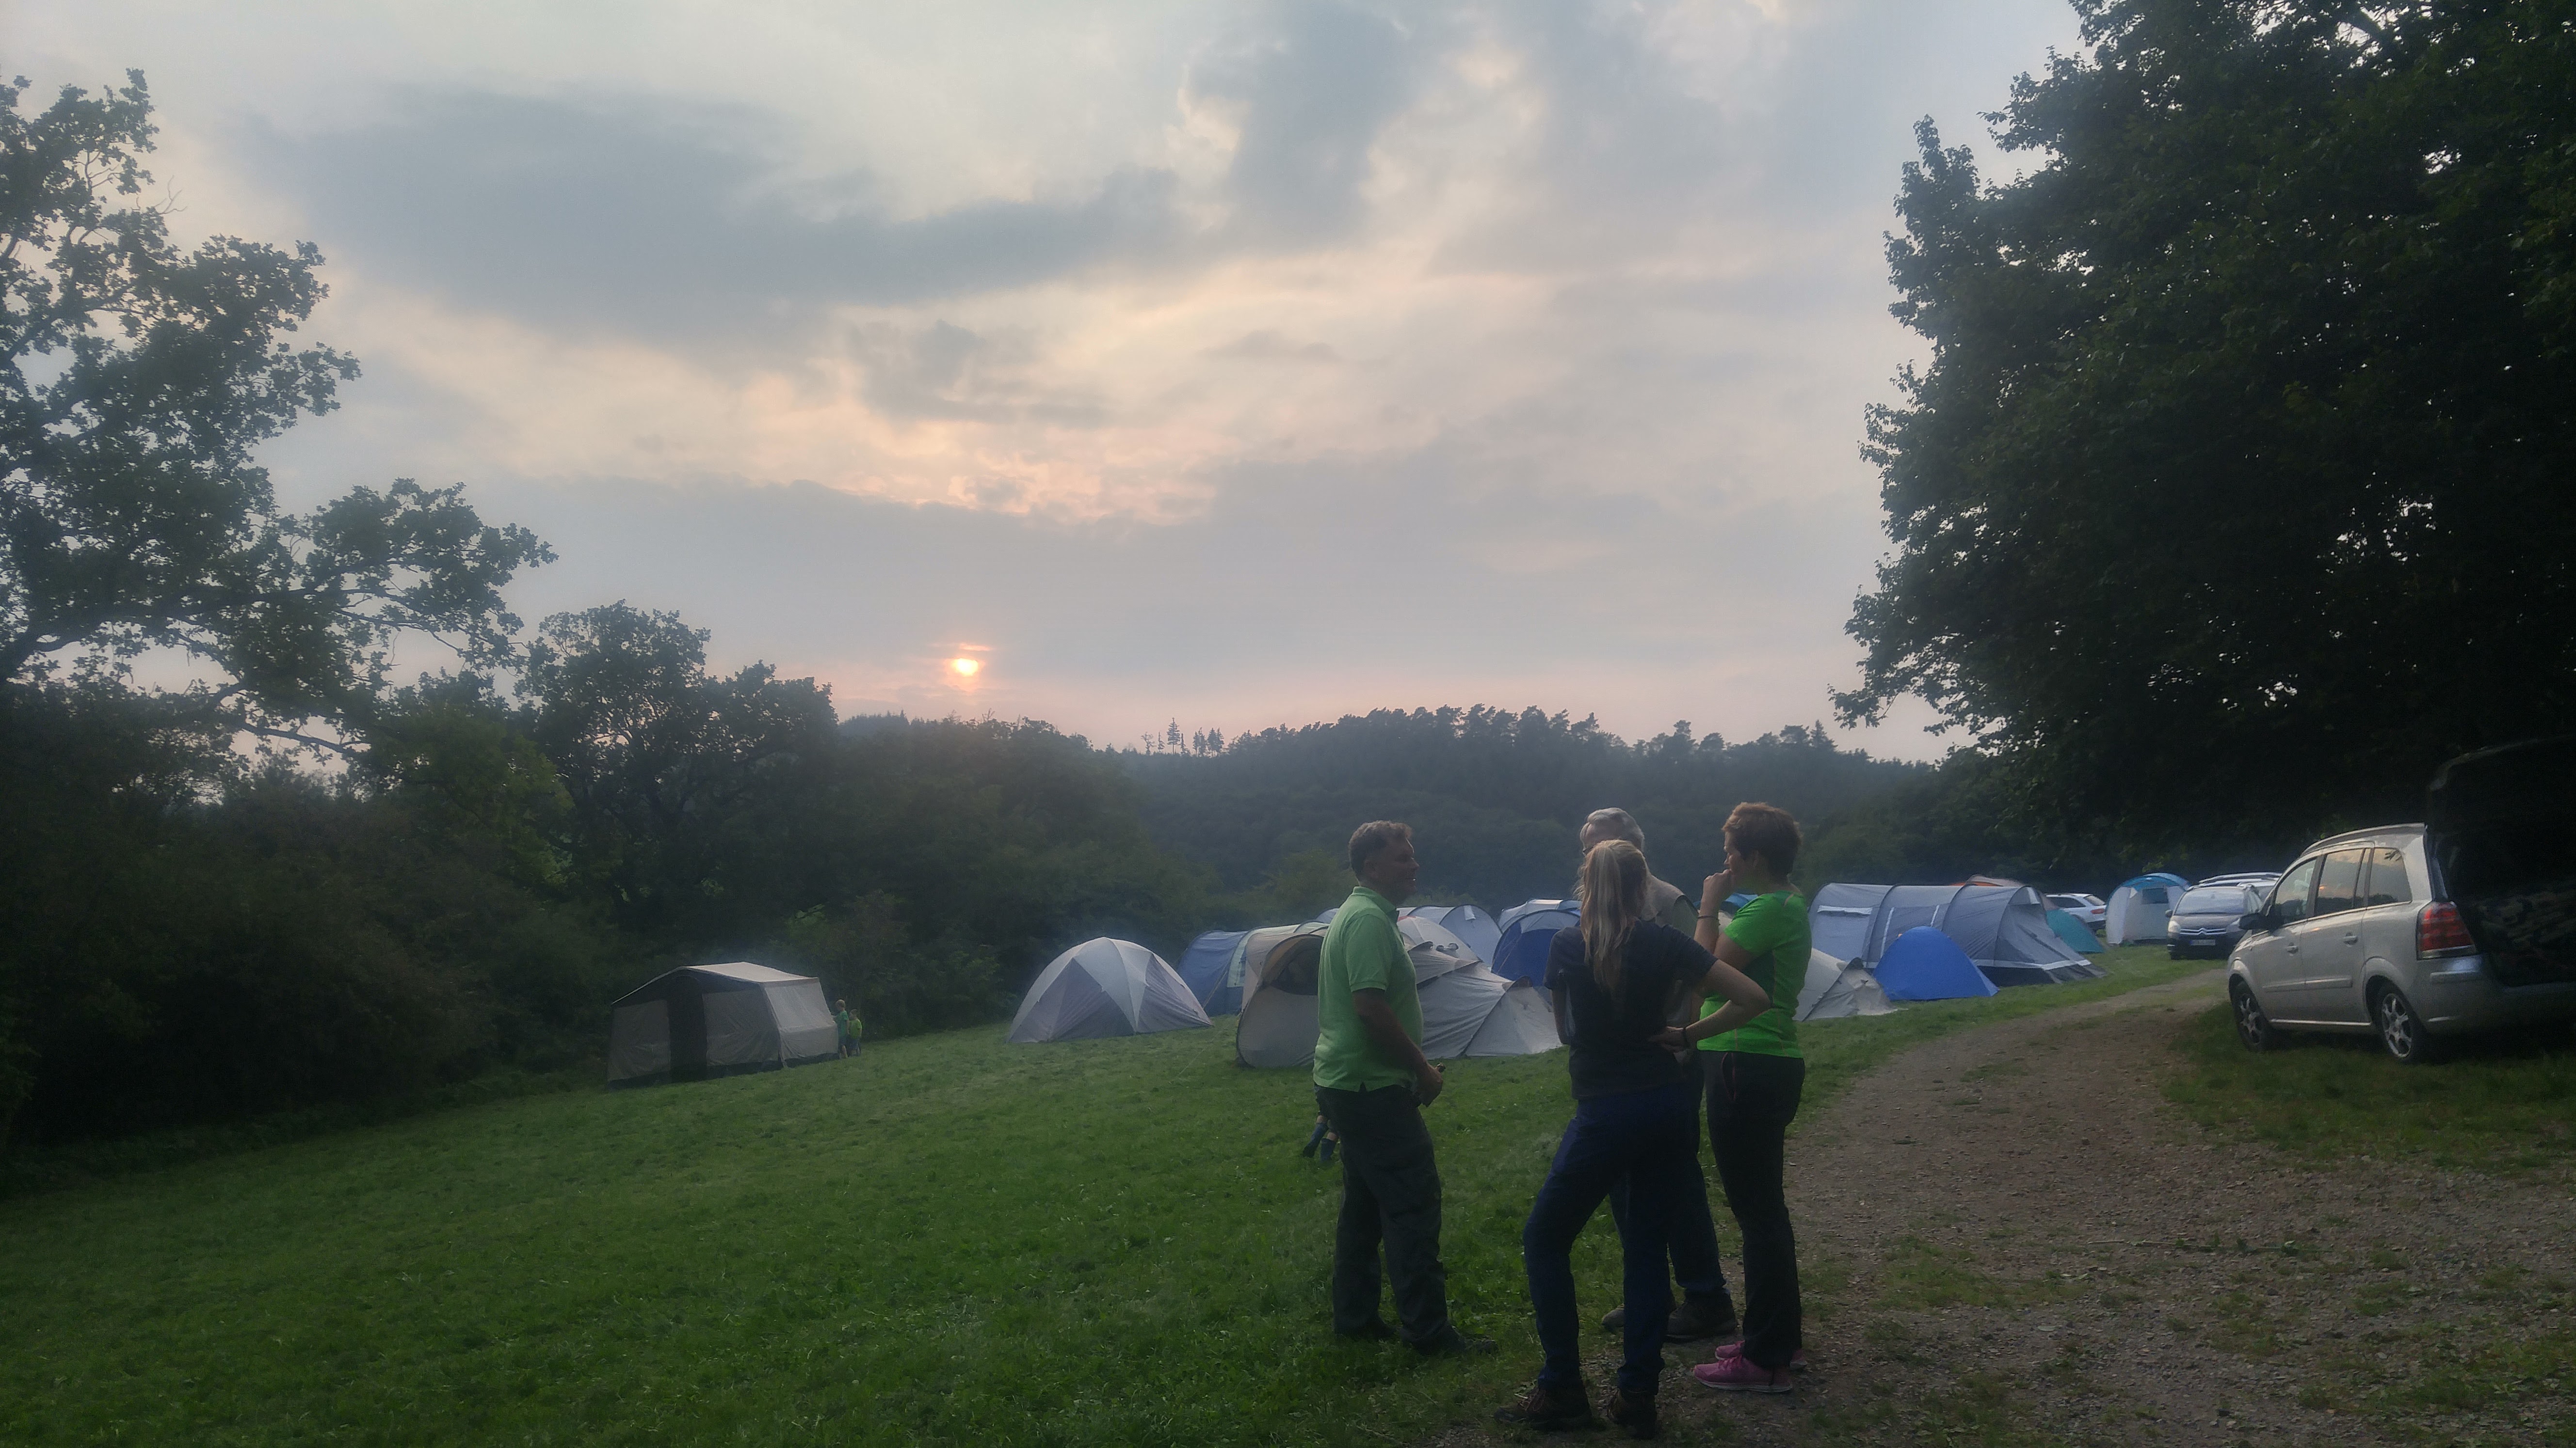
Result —
[[1414, 1087], [1314, 1087], [1314, 1105], [1342, 1139], [1342, 1221], [1332, 1229], [1332, 1329], [1378, 1322], [1378, 1247], [1396, 1283], [1406, 1342], [1448, 1327], [1448, 1270], [1440, 1268], [1440, 1165], [1422, 1126]]

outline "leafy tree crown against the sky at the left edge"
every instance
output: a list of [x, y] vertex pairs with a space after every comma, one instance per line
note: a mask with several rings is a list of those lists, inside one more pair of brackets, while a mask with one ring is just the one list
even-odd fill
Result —
[[358, 376], [286, 340], [327, 294], [322, 252], [173, 242], [126, 80], [39, 116], [0, 85], [0, 685], [175, 649], [211, 675], [211, 734], [335, 742], [304, 724], [363, 721], [397, 634], [507, 662], [500, 587], [551, 557], [533, 533], [410, 479], [278, 510], [252, 451]]

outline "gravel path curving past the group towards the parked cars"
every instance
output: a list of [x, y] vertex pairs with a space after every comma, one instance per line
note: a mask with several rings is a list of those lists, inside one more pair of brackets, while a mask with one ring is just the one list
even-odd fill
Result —
[[1674, 1368], [1667, 1438], [2576, 1440], [2571, 1183], [2205, 1136], [2156, 1082], [2215, 1000], [2213, 971], [1963, 1031], [1806, 1121], [1790, 1208], [1816, 1366], [1790, 1396]]

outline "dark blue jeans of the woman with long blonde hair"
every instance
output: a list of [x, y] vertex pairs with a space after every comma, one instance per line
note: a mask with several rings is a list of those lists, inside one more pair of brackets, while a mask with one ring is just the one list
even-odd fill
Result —
[[1700, 1144], [1690, 1082], [1631, 1090], [1574, 1103], [1574, 1121], [1556, 1144], [1530, 1221], [1520, 1229], [1520, 1262], [1530, 1273], [1530, 1311], [1548, 1366], [1538, 1381], [1551, 1391], [1582, 1391], [1582, 1324], [1574, 1311], [1574, 1237], [1592, 1221], [1610, 1188], [1628, 1183], [1628, 1219], [1620, 1221], [1620, 1286], [1628, 1304], [1625, 1360], [1618, 1391], [1628, 1402], [1654, 1399], [1664, 1376], [1664, 1237], [1695, 1175]]

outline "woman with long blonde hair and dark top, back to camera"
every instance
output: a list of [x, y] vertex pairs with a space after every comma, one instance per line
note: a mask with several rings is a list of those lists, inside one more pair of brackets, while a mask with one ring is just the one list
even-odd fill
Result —
[[1664, 1234], [1687, 1190], [1698, 1152], [1692, 1092], [1698, 1080], [1674, 1059], [1674, 1005], [1690, 995], [1723, 997], [1716, 1020], [1741, 1023], [1770, 1007], [1744, 971], [1718, 964], [1680, 930], [1646, 917], [1646, 855], [1625, 840], [1602, 840], [1584, 853], [1577, 889], [1582, 925], [1558, 930], [1548, 948], [1548, 992], [1556, 1028], [1574, 1046], [1574, 1121], [1556, 1144], [1530, 1221], [1520, 1232], [1520, 1257], [1530, 1273], [1530, 1309], [1546, 1368], [1504, 1422], [1577, 1427], [1592, 1422], [1584, 1394], [1579, 1319], [1574, 1311], [1574, 1237], [1610, 1188], [1628, 1180], [1628, 1219], [1620, 1229], [1625, 1260], [1625, 1360], [1610, 1417], [1631, 1438], [1656, 1430], [1654, 1389], [1664, 1373]]

